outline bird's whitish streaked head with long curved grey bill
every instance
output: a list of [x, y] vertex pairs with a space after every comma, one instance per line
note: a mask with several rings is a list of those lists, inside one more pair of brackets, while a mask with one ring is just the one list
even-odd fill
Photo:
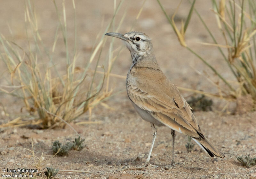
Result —
[[153, 50], [151, 39], [143, 32], [128, 32], [126, 34], [110, 32], [105, 35], [122, 39], [126, 47], [130, 50], [132, 58], [148, 56]]

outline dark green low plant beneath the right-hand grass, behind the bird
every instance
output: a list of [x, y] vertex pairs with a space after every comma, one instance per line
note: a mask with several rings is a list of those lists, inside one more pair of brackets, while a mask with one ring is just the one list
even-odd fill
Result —
[[188, 104], [192, 107], [193, 111], [212, 111], [212, 99], [208, 99], [204, 95], [192, 96], [188, 100]]

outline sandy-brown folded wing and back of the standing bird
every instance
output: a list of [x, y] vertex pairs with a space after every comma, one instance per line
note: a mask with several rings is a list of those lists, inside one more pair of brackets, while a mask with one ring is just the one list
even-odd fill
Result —
[[127, 94], [133, 103], [164, 125], [191, 137], [201, 136], [191, 107], [161, 70], [137, 70], [127, 85]]

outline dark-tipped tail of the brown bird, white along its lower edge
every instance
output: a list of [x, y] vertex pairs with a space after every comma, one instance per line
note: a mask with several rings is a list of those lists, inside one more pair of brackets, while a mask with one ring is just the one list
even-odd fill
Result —
[[[200, 135], [200, 134], [199, 134]], [[217, 156], [220, 158], [224, 158], [225, 155], [220, 152], [211, 142], [209, 142], [202, 134], [199, 138], [191, 137], [202, 149], [207, 152], [211, 157]]]

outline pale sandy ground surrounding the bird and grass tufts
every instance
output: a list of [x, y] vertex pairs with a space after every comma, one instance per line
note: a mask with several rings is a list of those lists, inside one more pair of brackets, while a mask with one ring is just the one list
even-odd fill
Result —
[[[1, 0], [0, 12], [0, 32], [7, 38], [13, 38], [21, 46], [26, 45], [26, 35], [24, 34], [24, 2]], [[174, 12], [179, 1], [161, 1], [170, 13]], [[15, 4], [15, 5], [14, 5]], [[57, 5], [61, 8], [61, 2]], [[126, 17], [119, 30], [120, 33], [128, 32], [134, 19], [136, 18], [142, 1], [125, 1], [120, 12], [116, 15], [117, 22], [126, 11]], [[57, 16], [52, 1], [43, 3], [35, 2], [38, 17], [39, 30], [46, 46], [52, 46], [54, 32], [56, 30]], [[210, 1], [197, 2], [197, 10], [221, 41], [217, 30], [215, 17], [210, 12]], [[184, 1], [177, 14], [178, 19], [186, 17], [189, 10], [189, 3]], [[86, 59], [90, 57], [90, 52], [95, 42], [96, 36], [107, 26], [113, 15], [112, 1], [76, 1], [77, 11], [77, 35], [78, 35], [78, 65], [84, 65]], [[71, 1], [66, 1], [66, 12], [68, 22], [68, 42], [74, 42], [74, 13]], [[180, 25], [180, 23], [178, 23]], [[12, 29], [10, 35], [9, 28]], [[204, 75], [198, 75], [194, 69], [201, 73], [207, 71], [207, 75], [212, 76], [212, 80], [217, 78], [212, 72], [189, 51], [182, 48], [166, 18], [163, 15], [156, 1], [146, 1], [140, 18], [135, 21], [133, 30], [143, 31], [152, 38], [156, 58], [160, 67], [172, 82], [178, 86], [216, 92], [218, 89], [207, 81]], [[110, 37], [109, 37], [110, 38]], [[233, 80], [232, 75], [227, 70], [226, 64], [221, 59], [215, 48], [202, 46], [198, 42], [212, 43], [211, 38], [200, 24], [194, 14], [189, 24], [186, 40], [190, 47], [206, 58], [220, 73]], [[96, 39], [96, 42], [98, 40]], [[110, 40], [107, 42], [109, 43]], [[221, 41], [222, 42], [222, 41]], [[224, 42], [223, 42], [224, 43]], [[61, 43], [60, 43], [61, 44]], [[114, 43], [114, 48], [122, 43], [118, 40]], [[2, 48], [2, 47], [0, 47]], [[63, 45], [56, 47], [55, 63], [61, 71], [65, 69], [65, 49]], [[102, 57], [106, 57], [108, 48], [103, 49]], [[102, 59], [101, 63], [103, 63]], [[124, 49], [118, 57], [112, 73], [124, 75], [131, 64], [129, 51]], [[5, 68], [0, 62], [1, 68]], [[194, 69], [193, 69], [194, 68]], [[5, 84], [0, 80], [0, 84]], [[135, 112], [125, 92], [124, 79], [112, 79], [112, 87], [118, 95], [109, 99], [106, 104], [115, 108], [108, 110], [98, 106], [93, 110], [92, 120], [101, 121], [100, 124], [75, 125], [71, 124], [76, 131], [85, 139], [86, 147], [82, 151], [70, 151], [68, 156], [51, 159], [52, 142], [59, 140], [67, 142], [73, 140], [76, 135], [74, 131], [66, 127], [65, 129], [29, 129], [25, 128], [4, 128], [0, 129], [0, 174], [3, 169], [32, 169], [36, 166], [33, 159], [32, 144], [35, 156], [43, 156], [44, 167], [55, 167], [63, 170], [84, 170], [89, 173], [59, 172], [55, 178], [108, 178], [108, 179], [130, 179], [130, 178], [249, 178], [256, 172], [256, 167], [246, 168], [236, 160], [236, 156], [250, 154], [256, 156], [256, 113], [251, 112], [243, 115], [225, 115], [217, 110], [223, 108], [225, 103], [219, 99], [214, 99], [214, 112], [195, 112], [197, 121], [204, 131], [205, 136], [226, 155], [224, 159], [217, 159], [212, 163], [212, 159], [202, 152], [198, 145], [195, 145], [192, 152], [186, 151], [185, 144], [188, 142], [187, 136], [177, 134], [175, 140], [175, 161], [176, 166], [170, 166], [172, 159], [172, 136], [169, 128], [157, 128], [158, 134], [155, 146], [151, 155], [151, 164], [159, 167], [146, 167], [136, 170], [134, 167], [142, 166], [147, 158], [152, 140], [150, 124], [140, 119]], [[181, 91], [186, 97], [189, 93]], [[4, 104], [6, 112], [9, 114], [19, 114], [22, 107], [20, 100], [10, 98], [6, 94], [0, 93], [1, 103]], [[231, 110], [234, 110], [234, 106]], [[0, 122], [10, 121], [12, 118], [3, 114]], [[79, 118], [78, 121], [88, 120], [88, 114]], [[25, 149], [23, 149], [25, 148]], [[42, 168], [44, 168], [42, 167]], [[40, 171], [38, 171], [40, 172]], [[7, 173], [5, 173], [7, 174]], [[10, 173], [8, 173], [10, 174]], [[38, 177], [40, 178], [40, 177]], [[252, 176], [251, 176], [252, 178]]]

